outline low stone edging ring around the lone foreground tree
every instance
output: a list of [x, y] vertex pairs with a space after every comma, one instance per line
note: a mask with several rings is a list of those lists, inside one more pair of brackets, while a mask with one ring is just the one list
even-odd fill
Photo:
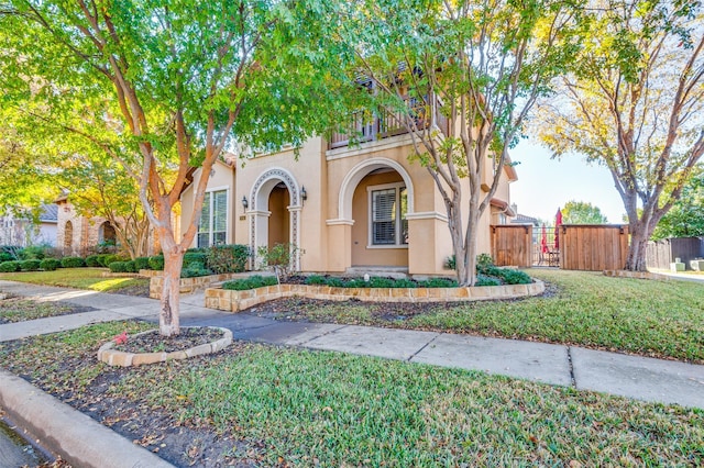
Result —
[[[186, 326], [184, 328], [187, 328]], [[98, 360], [106, 363], [108, 366], [141, 366], [143, 364], [164, 363], [172, 359], [187, 359], [189, 357], [202, 356], [207, 354], [217, 353], [220, 349], [224, 349], [232, 344], [232, 332], [228, 328], [220, 326], [211, 326], [210, 328], [217, 328], [222, 331], [222, 338], [211, 343], [205, 343], [202, 345], [195, 346], [185, 350], [175, 350], [170, 353], [125, 353], [121, 350], [112, 349], [114, 346], [113, 341], [100, 346], [98, 349]], [[138, 333], [134, 336], [144, 335], [147, 333], [154, 333], [153, 330]]]

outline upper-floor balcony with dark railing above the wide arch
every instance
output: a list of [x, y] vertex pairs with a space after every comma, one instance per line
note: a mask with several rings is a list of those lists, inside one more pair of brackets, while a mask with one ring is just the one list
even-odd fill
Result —
[[[419, 129], [428, 127], [430, 120], [426, 119], [426, 108], [417, 98], [405, 98], [404, 102], [411, 109], [416, 125]], [[408, 133], [404, 124], [405, 112], [380, 111], [371, 113], [366, 110], [353, 112], [350, 119], [348, 131], [344, 133], [333, 133], [328, 142], [328, 149], [341, 148], [350, 144], [361, 144], [365, 142], [378, 141], [396, 135]], [[446, 132], [448, 120], [440, 113], [437, 114], [438, 126]]]

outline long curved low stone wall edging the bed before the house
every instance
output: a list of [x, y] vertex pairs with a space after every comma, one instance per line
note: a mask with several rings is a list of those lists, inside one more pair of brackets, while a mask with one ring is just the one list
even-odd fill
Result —
[[206, 289], [206, 308], [240, 312], [262, 302], [290, 297], [365, 302], [465, 302], [525, 298], [541, 294], [544, 290], [544, 282], [539, 280], [529, 285], [466, 288], [333, 288], [314, 285], [277, 285], [245, 291], [209, 288]]

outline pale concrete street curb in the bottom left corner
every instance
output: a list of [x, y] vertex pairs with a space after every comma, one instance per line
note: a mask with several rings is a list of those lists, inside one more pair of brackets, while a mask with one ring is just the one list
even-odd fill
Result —
[[1, 369], [0, 406], [42, 446], [75, 467], [173, 468], [147, 449]]

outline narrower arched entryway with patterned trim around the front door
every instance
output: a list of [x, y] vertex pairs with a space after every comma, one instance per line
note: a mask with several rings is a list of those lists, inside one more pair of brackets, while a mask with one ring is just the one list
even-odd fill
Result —
[[[273, 168], [262, 174], [250, 193], [250, 248], [273, 247], [290, 243], [300, 247], [300, 188], [286, 169]], [[294, 259], [300, 269], [300, 258]]]

